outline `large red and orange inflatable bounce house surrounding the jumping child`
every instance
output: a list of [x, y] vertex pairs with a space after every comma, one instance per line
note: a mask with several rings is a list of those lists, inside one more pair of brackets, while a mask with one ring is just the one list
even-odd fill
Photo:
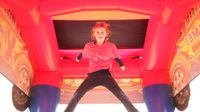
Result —
[[[189, 93], [176, 100], [200, 73], [199, 0], [0, 0], [0, 72], [13, 83], [18, 110], [37, 88], [56, 90], [46, 96], [56, 97], [55, 107], [69, 102], [87, 76], [88, 59], [75, 58], [99, 21], [111, 25], [126, 67], [114, 62], [112, 76], [132, 103], [149, 112], [187, 108]], [[80, 103], [119, 101], [98, 87]]]

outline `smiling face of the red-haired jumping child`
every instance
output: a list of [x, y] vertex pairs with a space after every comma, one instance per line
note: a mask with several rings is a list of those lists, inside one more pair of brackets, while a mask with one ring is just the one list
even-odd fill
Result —
[[94, 37], [95, 37], [98, 45], [101, 45], [104, 43], [106, 36], [107, 36], [107, 34], [106, 34], [105, 28], [100, 27], [100, 28], [95, 29]]

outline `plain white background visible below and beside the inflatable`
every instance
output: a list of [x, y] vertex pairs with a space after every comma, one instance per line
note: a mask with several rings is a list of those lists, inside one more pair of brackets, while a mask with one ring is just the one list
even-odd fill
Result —
[[[12, 104], [12, 83], [8, 81], [2, 74], [0, 74], [0, 112], [19, 112]], [[197, 112], [200, 111], [200, 76], [195, 78], [190, 83], [191, 97], [188, 108], [183, 112]], [[148, 112], [144, 103], [134, 104], [140, 112]], [[58, 105], [56, 112], [63, 112], [67, 105]], [[78, 104], [74, 112], [127, 112], [122, 104]], [[27, 109], [24, 112], [29, 112]], [[180, 112], [175, 110], [175, 112]]]

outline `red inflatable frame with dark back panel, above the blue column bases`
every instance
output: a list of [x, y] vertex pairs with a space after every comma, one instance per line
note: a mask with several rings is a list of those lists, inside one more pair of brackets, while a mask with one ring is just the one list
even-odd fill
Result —
[[111, 41], [117, 44], [126, 65], [127, 70], [122, 72], [114, 64], [115, 78], [137, 79], [140, 88], [142, 84], [171, 84], [169, 72], [177, 42], [182, 28], [194, 17], [191, 12], [199, 10], [199, 3], [199, 0], [0, 0], [0, 6], [12, 12], [20, 28], [34, 74], [32, 85], [56, 87], [60, 87], [60, 78], [86, 76], [87, 60], [77, 64], [74, 59], [84, 43], [90, 41], [90, 29], [96, 21], [111, 24]]

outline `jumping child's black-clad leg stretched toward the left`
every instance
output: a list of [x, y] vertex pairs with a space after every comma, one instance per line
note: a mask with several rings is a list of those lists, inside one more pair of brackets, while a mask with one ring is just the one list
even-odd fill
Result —
[[79, 88], [76, 90], [76, 92], [73, 95], [73, 98], [70, 100], [67, 108], [64, 112], [73, 112], [76, 105], [78, 104], [81, 97], [92, 88], [96, 87], [98, 85], [98, 81], [95, 80], [95, 76], [88, 75], [88, 77], [82, 82], [82, 84], [79, 86]]

